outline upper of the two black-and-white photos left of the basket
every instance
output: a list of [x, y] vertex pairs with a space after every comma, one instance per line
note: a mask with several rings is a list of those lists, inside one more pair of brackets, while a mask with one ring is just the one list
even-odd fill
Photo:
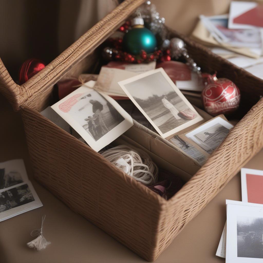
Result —
[[23, 159], [0, 163], [0, 190], [25, 182], [27, 171]]

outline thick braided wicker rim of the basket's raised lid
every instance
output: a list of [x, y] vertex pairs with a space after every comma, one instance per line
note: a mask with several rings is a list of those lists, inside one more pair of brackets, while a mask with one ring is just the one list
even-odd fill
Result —
[[79, 61], [92, 53], [144, 2], [145, 0], [125, 0], [21, 86], [14, 83], [2, 61], [0, 61], [0, 91], [7, 97], [14, 110], [19, 110], [23, 104], [36, 105], [33, 102], [31, 103], [35, 97], [52, 88], [59, 79]]

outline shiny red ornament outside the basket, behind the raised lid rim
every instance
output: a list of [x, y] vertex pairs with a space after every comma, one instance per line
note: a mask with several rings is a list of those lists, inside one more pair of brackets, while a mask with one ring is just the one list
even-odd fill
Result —
[[19, 83], [23, 84], [45, 67], [45, 63], [37, 58], [26, 60], [19, 69]]

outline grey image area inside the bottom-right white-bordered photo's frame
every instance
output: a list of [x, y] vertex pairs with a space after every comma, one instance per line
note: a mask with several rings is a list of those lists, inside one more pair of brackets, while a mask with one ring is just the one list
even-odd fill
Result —
[[237, 216], [237, 256], [263, 259], [263, 218]]

